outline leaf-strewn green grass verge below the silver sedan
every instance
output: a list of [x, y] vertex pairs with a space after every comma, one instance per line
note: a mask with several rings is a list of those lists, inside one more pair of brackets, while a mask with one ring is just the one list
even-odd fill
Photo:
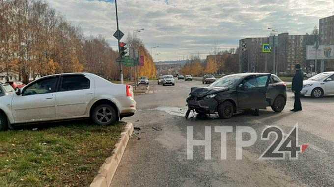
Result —
[[88, 186], [124, 123], [67, 123], [0, 132], [0, 187]]

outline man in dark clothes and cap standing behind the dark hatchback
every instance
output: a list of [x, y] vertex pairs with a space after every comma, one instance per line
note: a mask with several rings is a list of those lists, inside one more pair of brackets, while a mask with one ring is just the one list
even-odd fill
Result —
[[295, 69], [296, 69], [296, 74], [292, 79], [292, 87], [291, 87], [292, 92], [295, 93], [295, 103], [293, 105], [293, 109], [290, 110], [293, 112], [302, 110], [300, 93], [301, 90], [303, 89], [303, 72], [301, 70], [301, 65], [296, 64]]

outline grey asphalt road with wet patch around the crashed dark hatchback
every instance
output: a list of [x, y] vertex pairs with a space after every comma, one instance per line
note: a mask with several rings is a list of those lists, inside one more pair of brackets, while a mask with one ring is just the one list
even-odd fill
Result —
[[[334, 186], [334, 97], [302, 98], [303, 111], [293, 113], [292, 93], [288, 92], [286, 108], [275, 113], [270, 107], [260, 110], [260, 116], [251, 112], [230, 119], [196, 117], [186, 120], [186, 102], [190, 88], [203, 86], [199, 81], [177, 81], [175, 86], [151, 82], [153, 94], [138, 95], [138, 112], [125, 118], [139, 127], [124, 152], [111, 187], [162, 186]], [[260, 140], [268, 125], [280, 127], [286, 134], [298, 123], [298, 143], [309, 144], [297, 160], [260, 160], [260, 155], [271, 145]], [[187, 159], [187, 126], [194, 129], [194, 139], [204, 139], [204, 127], [211, 127], [210, 160], [204, 159], [204, 147], [194, 147], [193, 160]], [[220, 133], [216, 126], [232, 126], [227, 134], [227, 159], [220, 158]], [[243, 159], [236, 160], [235, 127], [252, 127], [257, 141], [243, 149]], [[247, 134], [243, 140], [248, 140]]]

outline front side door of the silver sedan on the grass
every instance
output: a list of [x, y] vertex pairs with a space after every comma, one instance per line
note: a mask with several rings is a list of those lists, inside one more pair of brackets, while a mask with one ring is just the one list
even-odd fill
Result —
[[15, 123], [46, 121], [56, 118], [56, 87], [58, 76], [39, 79], [15, 94], [12, 112]]

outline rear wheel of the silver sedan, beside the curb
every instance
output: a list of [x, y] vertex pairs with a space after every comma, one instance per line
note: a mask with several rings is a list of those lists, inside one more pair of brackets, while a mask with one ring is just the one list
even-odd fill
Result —
[[116, 122], [118, 117], [114, 107], [102, 104], [94, 108], [91, 118], [95, 124], [110, 125]]

